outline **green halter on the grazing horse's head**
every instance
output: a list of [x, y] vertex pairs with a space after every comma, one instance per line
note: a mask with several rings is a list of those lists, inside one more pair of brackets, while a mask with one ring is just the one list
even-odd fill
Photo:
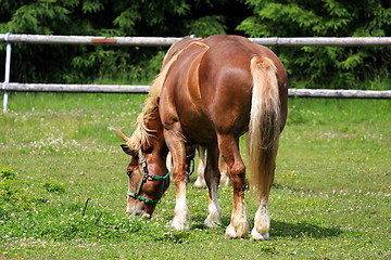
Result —
[[[139, 151], [139, 157], [141, 159], [141, 166], [142, 166], [142, 176], [141, 176], [141, 179], [140, 179], [140, 182], [139, 184], [137, 185], [137, 190], [135, 193], [131, 193], [131, 192], [128, 192], [127, 195], [129, 197], [133, 197], [133, 198], [136, 198], [136, 199], [139, 199], [141, 202], [144, 202], [144, 203], [159, 203], [161, 197], [163, 196], [163, 193], [164, 193], [164, 186], [165, 186], [165, 180], [169, 177], [169, 171], [167, 171], [167, 173], [164, 176], [164, 177], [160, 177], [160, 176], [155, 176], [155, 174], [150, 174], [149, 171], [148, 171], [148, 165], [147, 165], [147, 160], [146, 160], [146, 157], [142, 155], [142, 152]], [[143, 196], [141, 196], [141, 190], [142, 190], [142, 185], [147, 182], [147, 181], [162, 181], [161, 183], [161, 191], [160, 191], [160, 198], [156, 198], [156, 199], [149, 199], [149, 198], [146, 198]]]

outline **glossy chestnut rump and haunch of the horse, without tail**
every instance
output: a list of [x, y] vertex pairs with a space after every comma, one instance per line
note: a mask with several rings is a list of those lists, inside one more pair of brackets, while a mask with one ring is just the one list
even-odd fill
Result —
[[199, 68], [202, 109], [219, 133], [241, 135], [248, 131], [253, 86], [250, 63], [254, 56], [272, 60], [279, 69], [280, 84], [285, 84], [287, 76], [278, 57], [245, 38], [228, 37], [203, 55]]

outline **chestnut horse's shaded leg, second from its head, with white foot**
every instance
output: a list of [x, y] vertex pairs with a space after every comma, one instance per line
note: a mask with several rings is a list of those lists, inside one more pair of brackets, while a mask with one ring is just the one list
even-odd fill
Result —
[[207, 148], [205, 181], [209, 190], [209, 216], [204, 224], [207, 227], [217, 227], [220, 225], [222, 208], [218, 205], [217, 188], [220, 173], [218, 170], [218, 147], [213, 145]]

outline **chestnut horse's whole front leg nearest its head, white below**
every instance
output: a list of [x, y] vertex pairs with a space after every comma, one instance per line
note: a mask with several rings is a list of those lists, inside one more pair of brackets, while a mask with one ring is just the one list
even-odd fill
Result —
[[184, 139], [176, 131], [164, 130], [164, 138], [173, 155], [174, 183], [176, 191], [176, 203], [174, 210], [173, 227], [175, 230], [189, 230], [189, 208], [186, 198], [187, 166], [186, 146]]

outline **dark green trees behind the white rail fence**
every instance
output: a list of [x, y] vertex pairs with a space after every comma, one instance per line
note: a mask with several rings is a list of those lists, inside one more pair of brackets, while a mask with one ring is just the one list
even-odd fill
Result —
[[[391, 35], [390, 28], [391, 8], [383, 0], [1, 0], [0, 3], [1, 34], [382, 37]], [[167, 50], [12, 47], [11, 81], [65, 83], [150, 83]], [[1, 72], [4, 50], [5, 44], [0, 44]], [[390, 84], [390, 47], [273, 50], [288, 68], [293, 87], [304, 83], [310, 88], [388, 89]]]

